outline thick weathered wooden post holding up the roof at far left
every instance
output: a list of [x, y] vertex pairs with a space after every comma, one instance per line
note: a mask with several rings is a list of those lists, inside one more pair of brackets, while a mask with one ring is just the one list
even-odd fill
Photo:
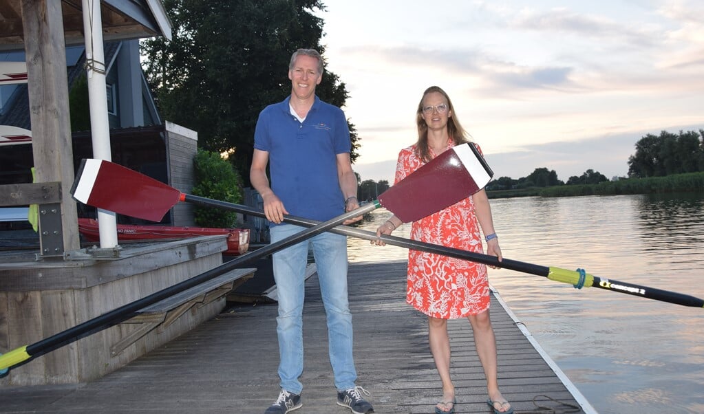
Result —
[[[63, 249], [80, 249], [61, 1], [22, 0], [36, 182], [61, 182]], [[41, 231], [41, 229], [39, 229]]]

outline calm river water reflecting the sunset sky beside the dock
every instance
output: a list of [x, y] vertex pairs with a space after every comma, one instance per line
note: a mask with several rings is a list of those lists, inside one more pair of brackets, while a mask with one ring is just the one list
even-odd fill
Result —
[[[506, 258], [704, 298], [704, 194], [495, 199], [491, 208]], [[389, 215], [373, 211], [360, 227], [376, 230]], [[351, 261], [407, 257], [360, 239], [348, 246]], [[505, 269], [489, 279], [599, 413], [704, 413], [703, 309]]]

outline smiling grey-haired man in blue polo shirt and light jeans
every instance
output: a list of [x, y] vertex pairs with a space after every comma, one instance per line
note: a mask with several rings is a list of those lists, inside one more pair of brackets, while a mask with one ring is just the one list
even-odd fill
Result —
[[[340, 108], [315, 96], [322, 66], [317, 51], [298, 49], [289, 64], [291, 96], [264, 108], [257, 121], [250, 180], [264, 201], [272, 243], [303, 230], [284, 224], [284, 214], [326, 221], [359, 207], [347, 120]], [[281, 392], [266, 414], [285, 414], [303, 406], [303, 384], [298, 377], [303, 373], [303, 299], [309, 244], [325, 304], [337, 403], [356, 414], [374, 413], [362, 396], [370, 394], [355, 384], [352, 315], [347, 298], [347, 238], [322, 233], [272, 255], [279, 303]]]

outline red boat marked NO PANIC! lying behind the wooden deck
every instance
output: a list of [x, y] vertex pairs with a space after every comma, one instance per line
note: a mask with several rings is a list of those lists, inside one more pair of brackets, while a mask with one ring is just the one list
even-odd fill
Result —
[[[169, 227], [161, 225], [117, 225], [118, 241], [151, 239], [187, 239], [199, 236], [227, 234], [227, 250], [222, 254], [239, 256], [249, 250], [249, 229], [218, 229], [214, 227]], [[78, 219], [78, 232], [88, 242], [99, 242], [98, 222], [92, 218]]]

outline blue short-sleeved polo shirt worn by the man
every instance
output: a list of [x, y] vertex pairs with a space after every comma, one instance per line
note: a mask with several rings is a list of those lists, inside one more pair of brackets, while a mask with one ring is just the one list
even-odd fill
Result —
[[340, 108], [315, 96], [300, 123], [290, 99], [261, 111], [254, 148], [269, 153], [271, 188], [291, 215], [329, 220], [344, 213], [337, 154], [351, 151], [347, 120]]

